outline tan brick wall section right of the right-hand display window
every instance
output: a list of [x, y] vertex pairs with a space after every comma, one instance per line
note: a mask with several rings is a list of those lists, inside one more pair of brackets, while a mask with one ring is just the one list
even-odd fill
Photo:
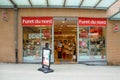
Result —
[[107, 26], [107, 62], [110, 65], [120, 65], [120, 31], [115, 32], [114, 26], [120, 21], [108, 21]]

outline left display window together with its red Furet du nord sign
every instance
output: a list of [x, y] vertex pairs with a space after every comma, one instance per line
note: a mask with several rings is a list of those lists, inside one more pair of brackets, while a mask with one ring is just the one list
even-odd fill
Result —
[[[22, 17], [23, 26], [23, 62], [41, 62], [45, 44], [53, 53], [53, 18]], [[52, 54], [52, 62], [53, 62]]]

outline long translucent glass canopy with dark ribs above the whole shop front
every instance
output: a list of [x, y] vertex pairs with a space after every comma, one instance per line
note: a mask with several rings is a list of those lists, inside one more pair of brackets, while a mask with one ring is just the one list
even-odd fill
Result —
[[0, 8], [108, 9], [118, 0], [0, 0]]

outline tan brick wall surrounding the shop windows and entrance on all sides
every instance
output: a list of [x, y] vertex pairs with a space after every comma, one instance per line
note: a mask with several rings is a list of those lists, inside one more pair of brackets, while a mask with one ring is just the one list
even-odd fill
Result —
[[[0, 62], [15, 62], [14, 45], [14, 10], [7, 9], [8, 22], [0, 19]], [[2, 9], [0, 9], [2, 14]], [[22, 16], [67, 16], [67, 17], [107, 17], [104, 10], [79, 10], [79, 9], [20, 9], [18, 23], [18, 56], [19, 62], [22, 62]], [[0, 15], [0, 18], [2, 16]], [[120, 64], [120, 31], [114, 32], [114, 24], [120, 21], [108, 21], [106, 29], [106, 52], [108, 64]]]

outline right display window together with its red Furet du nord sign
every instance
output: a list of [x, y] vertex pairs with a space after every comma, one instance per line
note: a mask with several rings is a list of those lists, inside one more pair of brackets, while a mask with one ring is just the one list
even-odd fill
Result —
[[78, 18], [78, 61], [106, 60], [106, 18]]

